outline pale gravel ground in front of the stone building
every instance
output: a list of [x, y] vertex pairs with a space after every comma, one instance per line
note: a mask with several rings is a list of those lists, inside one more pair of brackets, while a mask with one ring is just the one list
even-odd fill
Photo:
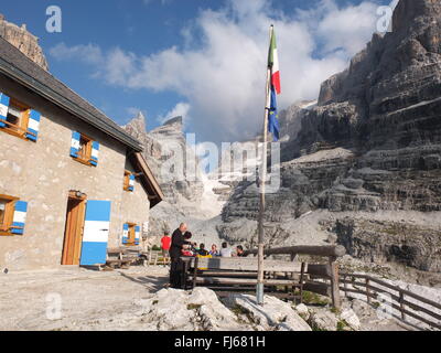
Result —
[[[83, 268], [0, 275], [0, 331], [127, 330], [142, 300], [168, 282], [168, 268]], [[61, 309], [61, 310], [58, 310]]]

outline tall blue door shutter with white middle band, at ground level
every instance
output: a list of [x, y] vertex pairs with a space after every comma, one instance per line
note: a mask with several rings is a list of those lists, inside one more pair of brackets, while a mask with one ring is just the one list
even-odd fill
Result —
[[79, 265], [106, 264], [110, 228], [110, 201], [87, 201]]

